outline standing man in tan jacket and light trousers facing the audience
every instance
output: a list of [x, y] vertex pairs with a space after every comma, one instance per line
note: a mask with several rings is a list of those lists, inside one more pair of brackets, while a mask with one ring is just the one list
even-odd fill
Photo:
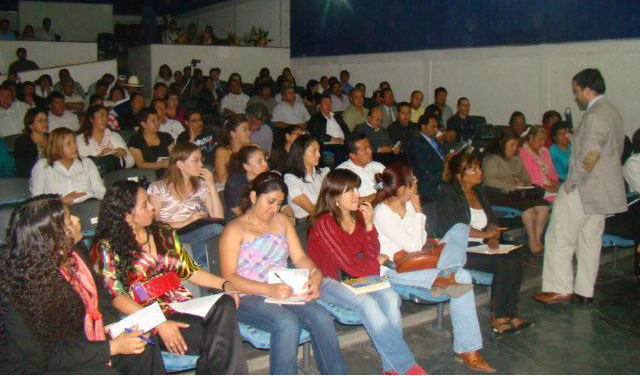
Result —
[[624, 145], [620, 112], [604, 96], [599, 70], [585, 69], [571, 84], [578, 106], [586, 112], [575, 130], [569, 176], [555, 199], [545, 237], [543, 292], [534, 295], [544, 304], [593, 301], [604, 217], [627, 210], [620, 163]]

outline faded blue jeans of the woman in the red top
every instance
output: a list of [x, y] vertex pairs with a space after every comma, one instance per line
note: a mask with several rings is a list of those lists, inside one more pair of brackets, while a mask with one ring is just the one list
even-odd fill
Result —
[[416, 359], [402, 337], [401, 300], [393, 289], [354, 294], [335, 279], [325, 278], [320, 298], [358, 313], [371, 342], [380, 354], [385, 371], [404, 375], [416, 364]]

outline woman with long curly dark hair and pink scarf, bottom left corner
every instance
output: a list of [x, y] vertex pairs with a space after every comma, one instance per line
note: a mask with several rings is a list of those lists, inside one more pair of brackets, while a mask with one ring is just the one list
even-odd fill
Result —
[[0, 372], [165, 373], [160, 349], [146, 346], [141, 331], [107, 339], [104, 328], [118, 316], [73, 246], [80, 230], [57, 195], [31, 198], [13, 212], [0, 252]]

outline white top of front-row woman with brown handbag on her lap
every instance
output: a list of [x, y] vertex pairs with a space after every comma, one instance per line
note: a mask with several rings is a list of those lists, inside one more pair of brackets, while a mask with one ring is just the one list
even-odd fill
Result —
[[405, 204], [407, 210], [404, 217], [400, 217], [385, 203], [378, 204], [373, 210], [373, 224], [378, 230], [380, 253], [391, 260], [400, 251], [417, 252], [427, 241], [427, 216], [418, 213], [411, 201]]

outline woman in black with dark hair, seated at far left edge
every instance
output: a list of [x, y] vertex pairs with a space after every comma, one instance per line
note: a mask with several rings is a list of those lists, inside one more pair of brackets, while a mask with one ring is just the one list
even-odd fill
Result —
[[47, 111], [31, 108], [24, 115], [24, 131], [13, 146], [13, 159], [16, 163], [16, 175], [30, 178], [31, 170], [39, 158], [47, 155], [47, 135], [49, 120]]

